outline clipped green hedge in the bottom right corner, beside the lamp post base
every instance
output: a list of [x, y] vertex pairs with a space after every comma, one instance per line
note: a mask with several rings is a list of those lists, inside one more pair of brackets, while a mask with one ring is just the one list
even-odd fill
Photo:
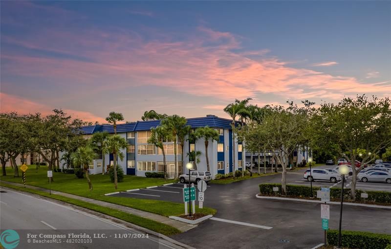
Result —
[[[338, 230], [327, 231], [327, 243], [338, 245]], [[341, 246], [351, 249], [390, 249], [391, 235], [359, 231], [341, 231]]]

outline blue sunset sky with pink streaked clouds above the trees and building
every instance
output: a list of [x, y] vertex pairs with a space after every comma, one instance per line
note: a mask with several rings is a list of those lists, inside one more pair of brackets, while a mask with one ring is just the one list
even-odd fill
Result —
[[1, 1], [1, 112], [391, 96], [391, 1]]

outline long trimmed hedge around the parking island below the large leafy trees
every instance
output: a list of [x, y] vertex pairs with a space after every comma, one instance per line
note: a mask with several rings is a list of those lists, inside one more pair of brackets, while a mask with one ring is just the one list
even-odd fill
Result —
[[[277, 195], [281, 194], [281, 183], [262, 183], [260, 184], [260, 192], [262, 195], [275, 195], [273, 191], [273, 187], [278, 187], [279, 191]], [[320, 190], [320, 187], [313, 186], [312, 187], [312, 196], [316, 197], [317, 191]], [[368, 198], [366, 198], [367, 202], [374, 203], [384, 203], [391, 204], [391, 192], [385, 191], [362, 191], [360, 189], [356, 189], [356, 201], [362, 201], [361, 193], [367, 193]], [[302, 197], [310, 197], [311, 196], [311, 188], [309, 186], [302, 185], [286, 185], [286, 195], [287, 196], [302, 196]], [[330, 199], [340, 199], [341, 198], [341, 188], [330, 188]], [[350, 189], [344, 189], [344, 199], [350, 200]]]

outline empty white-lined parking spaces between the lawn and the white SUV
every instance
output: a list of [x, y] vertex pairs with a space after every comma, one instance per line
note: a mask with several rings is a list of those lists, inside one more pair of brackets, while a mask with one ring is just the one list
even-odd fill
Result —
[[[173, 183], [164, 186], [151, 186], [151, 187], [140, 188], [136, 190], [128, 190], [126, 192], [120, 192], [119, 194], [114, 194], [111, 196], [152, 199], [152, 200], [182, 203], [184, 185], [185, 184], [182, 183]], [[186, 186], [188, 187], [188, 184]], [[208, 189], [210, 187], [211, 187], [210, 185], [207, 186]], [[195, 194], [196, 197], [198, 197], [198, 189], [196, 184], [195, 184]]]

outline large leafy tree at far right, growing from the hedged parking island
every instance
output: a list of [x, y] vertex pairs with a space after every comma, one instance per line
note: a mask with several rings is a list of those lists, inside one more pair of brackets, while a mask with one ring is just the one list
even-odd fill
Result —
[[[357, 174], [391, 144], [391, 101], [389, 98], [344, 98], [338, 104], [323, 103], [313, 115], [312, 139], [323, 148], [336, 146], [339, 155], [354, 165], [361, 156], [361, 167], [352, 167], [351, 199], [355, 200]], [[348, 155], [345, 153], [348, 152]]]

